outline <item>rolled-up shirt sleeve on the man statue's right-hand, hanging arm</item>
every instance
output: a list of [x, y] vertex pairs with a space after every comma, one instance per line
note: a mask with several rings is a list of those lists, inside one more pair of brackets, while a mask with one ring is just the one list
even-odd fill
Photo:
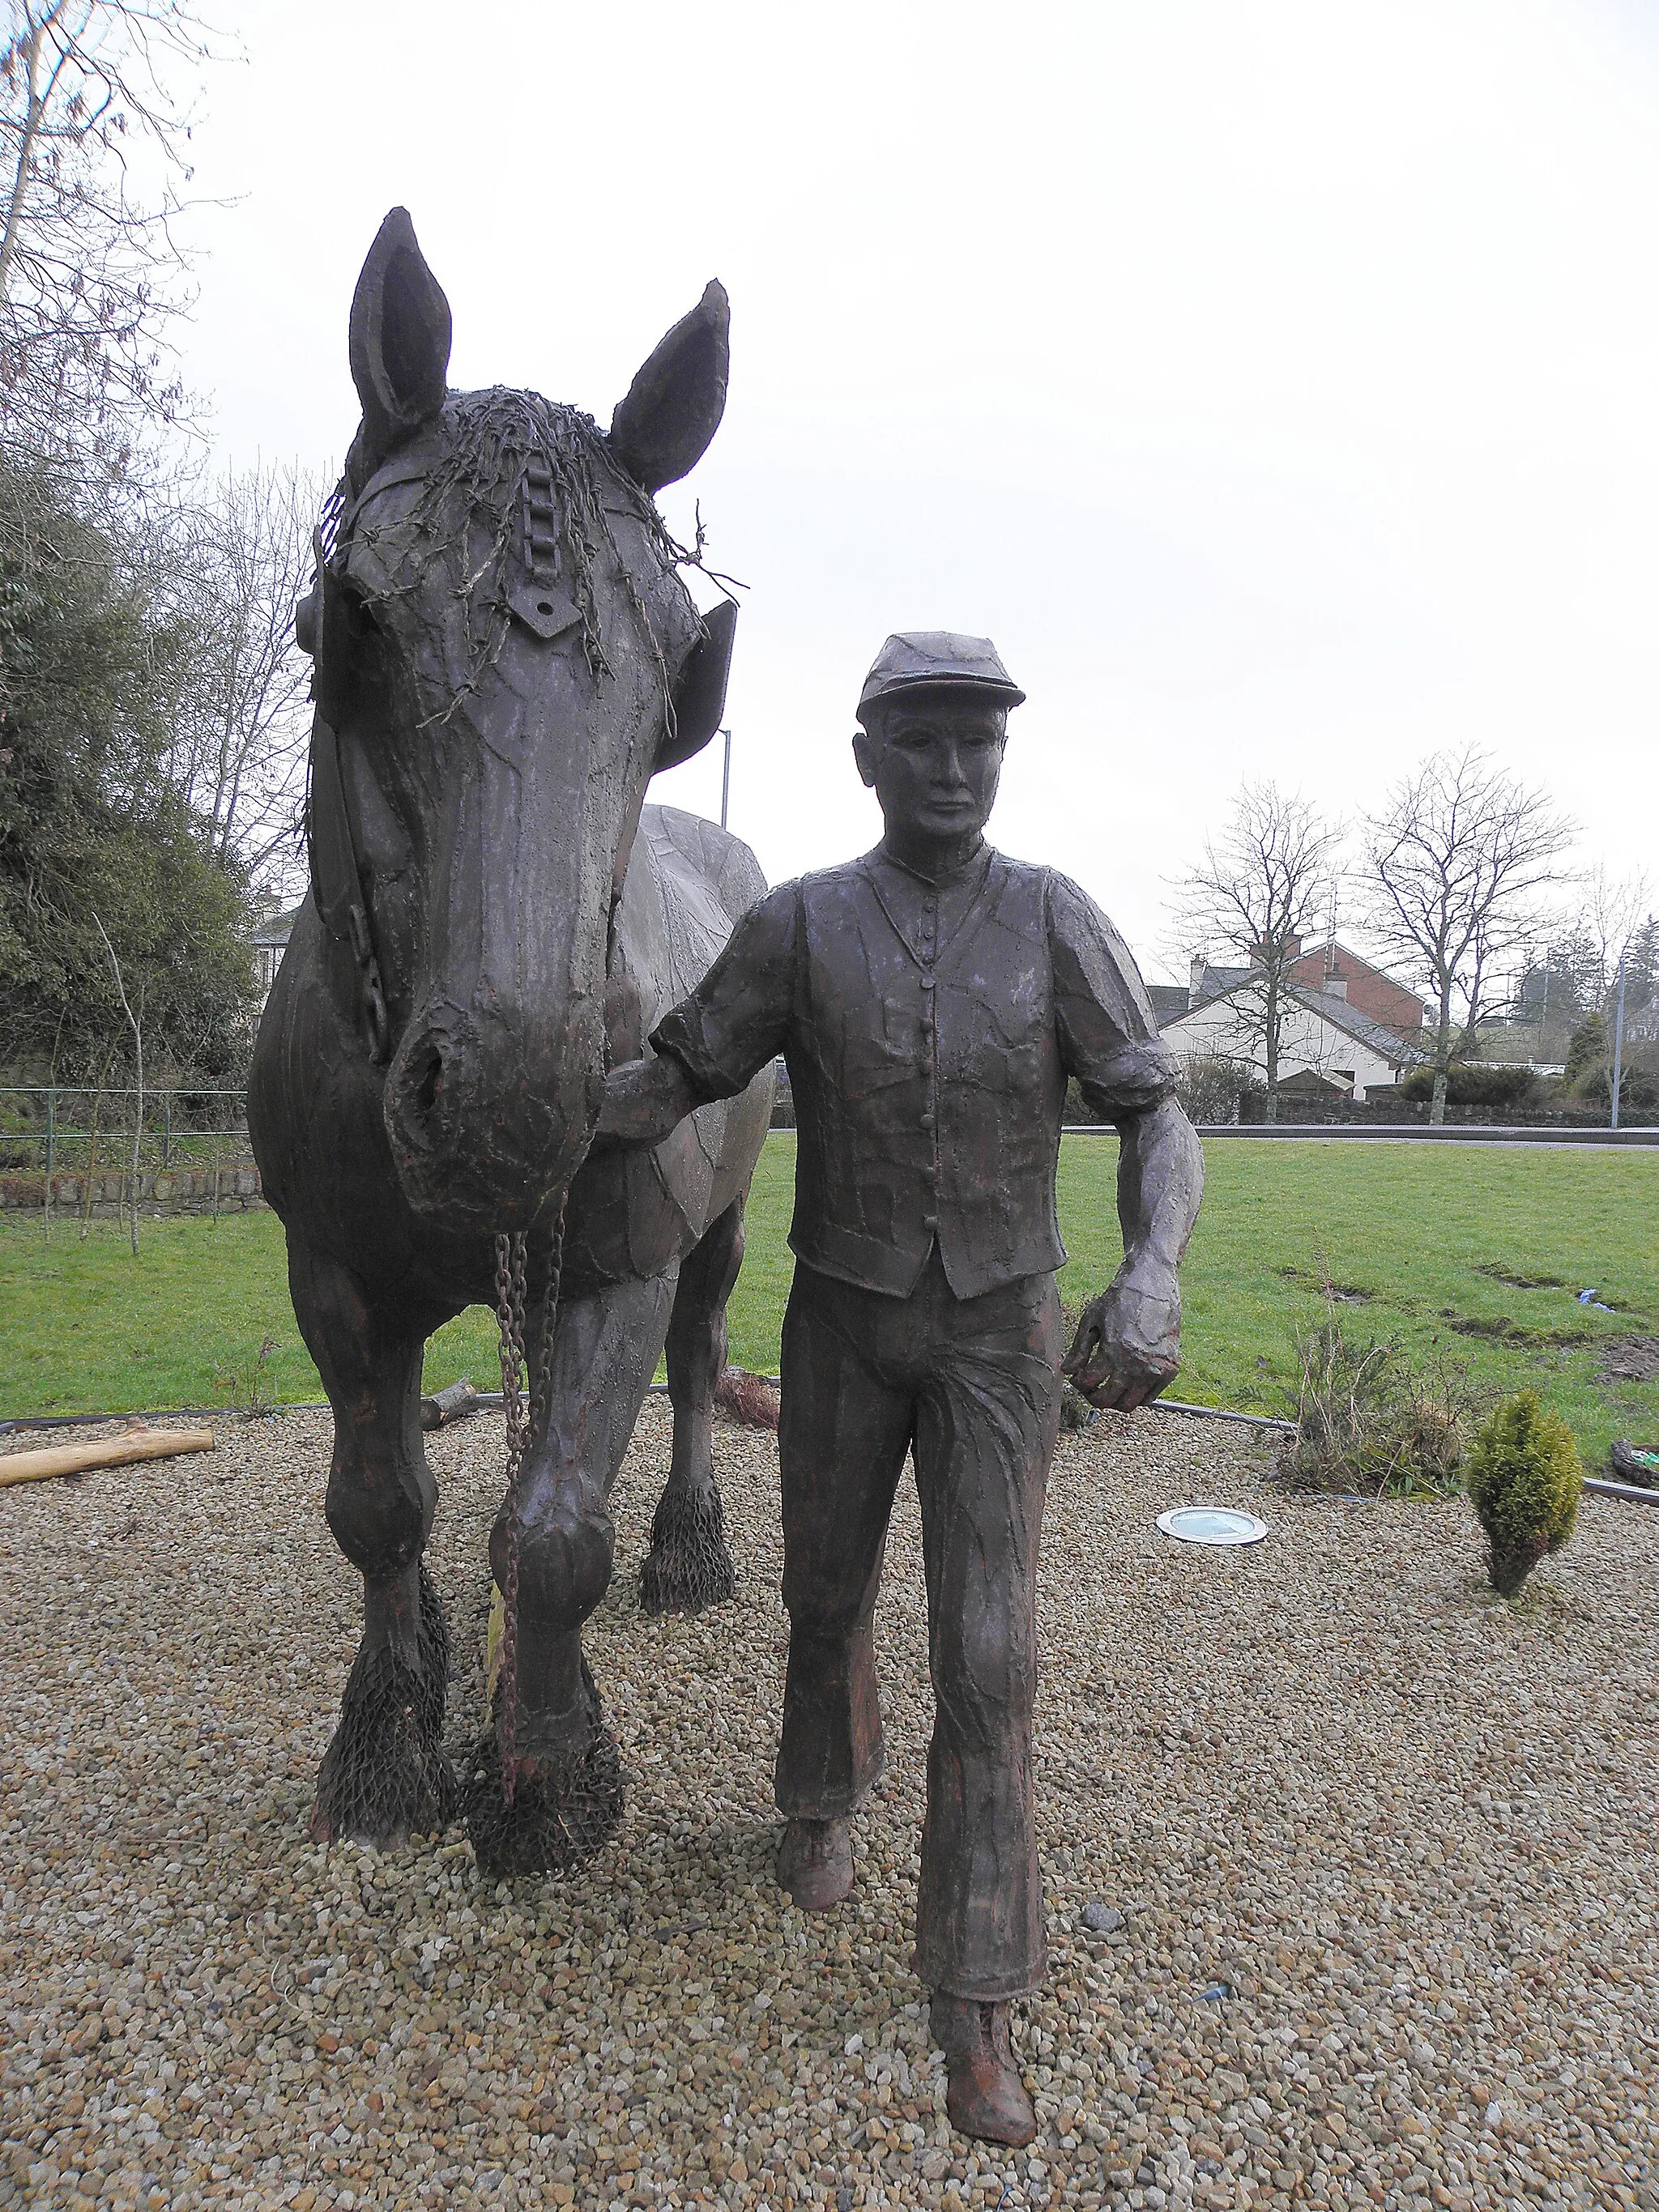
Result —
[[1135, 958], [1086, 891], [1048, 876], [1048, 953], [1060, 1057], [1106, 1119], [1146, 1113], [1175, 1093], [1175, 1060]]

